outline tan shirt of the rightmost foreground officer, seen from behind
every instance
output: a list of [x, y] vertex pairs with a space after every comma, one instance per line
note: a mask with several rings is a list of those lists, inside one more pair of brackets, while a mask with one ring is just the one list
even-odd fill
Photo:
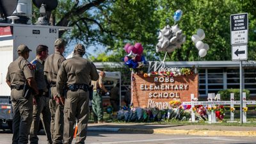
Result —
[[96, 81], [99, 74], [92, 61], [85, 60], [76, 54], [73, 58], [63, 61], [57, 76], [57, 90], [63, 96], [63, 88], [70, 84], [89, 84]]

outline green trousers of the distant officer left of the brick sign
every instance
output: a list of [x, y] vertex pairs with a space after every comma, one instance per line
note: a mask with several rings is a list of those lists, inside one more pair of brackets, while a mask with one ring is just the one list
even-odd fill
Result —
[[92, 111], [94, 122], [103, 120], [103, 104], [102, 95], [99, 95], [96, 91], [93, 91], [92, 97]]

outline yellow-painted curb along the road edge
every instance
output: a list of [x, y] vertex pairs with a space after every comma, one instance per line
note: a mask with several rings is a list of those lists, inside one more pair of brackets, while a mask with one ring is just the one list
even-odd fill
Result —
[[141, 132], [147, 134], [185, 134], [194, 136], [248, 136], [256, 137], [256, 131], [211, 131], [211, 130], [173, 130], [173, 129], [128, 129], [120, 128], [120, 132]]

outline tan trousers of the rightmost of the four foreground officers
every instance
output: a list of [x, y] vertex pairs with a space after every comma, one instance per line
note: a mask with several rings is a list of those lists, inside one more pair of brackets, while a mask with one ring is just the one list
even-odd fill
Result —
[[75, 143], [84, 143], [89, 119], [89, 92], [68, 90], [64, 106], [63, 143], [72, 143], [74, 124], [77, 119], [77, 134]]

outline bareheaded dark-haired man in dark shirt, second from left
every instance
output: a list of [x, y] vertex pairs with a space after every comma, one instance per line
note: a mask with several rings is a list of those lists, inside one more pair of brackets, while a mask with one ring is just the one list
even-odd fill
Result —
[[49, 108], [49, 97], [47, 95], [47, 83], [44, 76], [44, 61], [48, 56], [48, 47], [46, 45], [38, 45], [36, 47], [36, 58], [31, 61], [35, 65], [35, 81], [38, 87], [39, 95], [35, 95], [35, 103], [33, 106], [33, 121], [30, 128], [30, 143], [38, 143], [38, 128], [40, 122], [40, 114], [42, 113], [42, 124], [48, 143], [52, 143], [51, 138], [51, 111]]

